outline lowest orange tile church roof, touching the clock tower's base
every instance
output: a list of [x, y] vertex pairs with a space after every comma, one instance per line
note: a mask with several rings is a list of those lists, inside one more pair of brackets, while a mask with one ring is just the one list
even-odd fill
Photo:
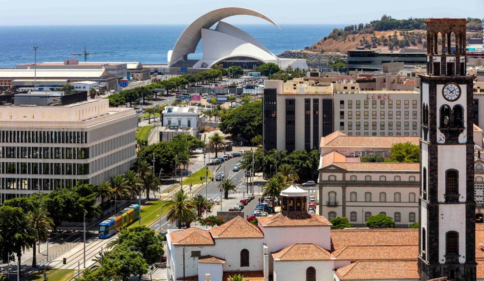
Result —
[[335, 272], [340, 280], [419, 279], [417, 259], [356, 261]]

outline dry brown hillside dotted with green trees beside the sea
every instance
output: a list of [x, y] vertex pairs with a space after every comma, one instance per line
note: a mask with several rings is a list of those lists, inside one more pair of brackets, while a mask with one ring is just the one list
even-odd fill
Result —
[[[467, 38], [482, 37], [480, 19], [467, 19]], [[383, 15], [380, 20], [359, 23], [333, 31], [320, 41], [306, 48], [318, 53], [346, 53], [356, 47], [387, 48], [398, 51], [400, 48], [426, 48], [425, 19], [396, 20]], [[440, 42], [439, 42], [440, 43]]]

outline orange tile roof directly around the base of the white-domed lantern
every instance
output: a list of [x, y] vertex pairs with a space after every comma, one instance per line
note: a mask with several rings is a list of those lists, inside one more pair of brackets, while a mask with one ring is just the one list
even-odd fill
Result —
[[257, 218], [263, 227], [301, 227], [301, 226], [331, 226], [332, 224], [324, 216], [289, 215], [279, 213], [274, 216], [260, 216]]

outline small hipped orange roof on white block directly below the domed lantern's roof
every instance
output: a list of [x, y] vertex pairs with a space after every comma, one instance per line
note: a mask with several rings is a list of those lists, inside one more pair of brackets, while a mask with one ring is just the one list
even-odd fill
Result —
[[280, 251], [272, 253], [274, 260], [330, 260], [333, 255], [314, 243], [295, 243]]

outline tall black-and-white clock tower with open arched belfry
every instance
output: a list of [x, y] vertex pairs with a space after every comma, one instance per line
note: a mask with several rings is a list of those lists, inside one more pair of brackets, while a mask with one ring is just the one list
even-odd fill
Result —
[[418, 271], [422, 281], [439, 277], [475, 281], [475, 77], [466, 75], [466, 20], [428, 19], [425, 23]]

